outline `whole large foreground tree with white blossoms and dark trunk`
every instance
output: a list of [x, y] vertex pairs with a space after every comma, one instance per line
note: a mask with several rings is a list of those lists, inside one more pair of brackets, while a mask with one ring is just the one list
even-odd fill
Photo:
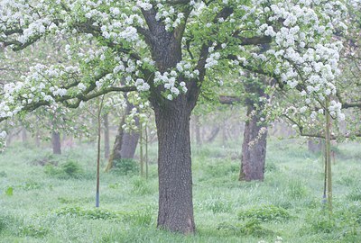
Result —
[[192, 233], [190, 113], [202, 85], [245, 68], [279, 76], [303, 92], [300, 104], [336, 94], [340, 45], [330, 38], [344, 9], [323, 0], [1, 0], [3, 45], [19, 50], [63, 35], [74, 39], [64, 51], [76, 65], [37, 65], [5, 85], [0, 120], [137, 90], [158, 132], [158, 227]]

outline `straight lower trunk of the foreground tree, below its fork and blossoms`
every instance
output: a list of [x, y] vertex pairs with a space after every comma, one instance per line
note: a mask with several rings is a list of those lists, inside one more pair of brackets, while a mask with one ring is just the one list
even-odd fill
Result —
[[[174, 106], [173, 106], [174, 105]], [[154, 107], [158, 130], [158, 228], [192, 233], [195, 230], [190, 157], [190, 112], [177, 98], [171, 108]]]

